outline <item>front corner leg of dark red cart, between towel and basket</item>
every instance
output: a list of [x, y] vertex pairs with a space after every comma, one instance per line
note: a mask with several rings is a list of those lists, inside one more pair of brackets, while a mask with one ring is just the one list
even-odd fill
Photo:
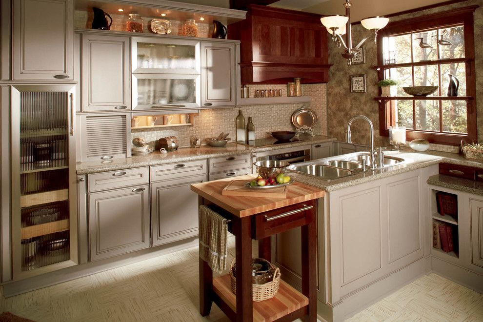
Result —
[[237, 321], [253, 321], [251, 218], [234, 218], [237, 268]]

